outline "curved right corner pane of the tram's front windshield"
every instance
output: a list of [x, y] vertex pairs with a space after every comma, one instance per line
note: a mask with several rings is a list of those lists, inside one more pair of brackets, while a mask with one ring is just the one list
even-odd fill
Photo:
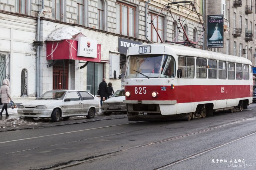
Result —
[[164, 62], [160, 77], [173, 78], [175, 77], [175, 60], [171, 56], [164, 55]]

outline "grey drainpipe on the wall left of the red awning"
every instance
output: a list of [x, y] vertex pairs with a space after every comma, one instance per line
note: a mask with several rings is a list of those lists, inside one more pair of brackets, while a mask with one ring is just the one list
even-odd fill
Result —
[[[36, 32], [36, 40], [40, 40], [40, 15], [43, 13], [45, 7], [45, 2], [42, 0], [42, 9], [39, 11], [37, 15], [37, 32]], [[36, 99], [39, 98], [39, 46], [36, 47]]]

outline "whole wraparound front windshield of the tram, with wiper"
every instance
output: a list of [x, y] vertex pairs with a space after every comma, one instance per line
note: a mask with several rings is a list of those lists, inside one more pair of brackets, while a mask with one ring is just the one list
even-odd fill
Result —
[[169, 55], [134, 55], [128, 57], [125, 78], [174, 78], [175, 60]]

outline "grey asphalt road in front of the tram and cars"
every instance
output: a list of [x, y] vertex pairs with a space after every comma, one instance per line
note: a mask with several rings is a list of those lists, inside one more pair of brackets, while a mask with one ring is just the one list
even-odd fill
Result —
[[242, 112], [222, 112], [192, 121], [128, 121], [124, 117], [1, 131], [0, 166], [72, 170], [256, 169], [255, 107], [251, 104]]

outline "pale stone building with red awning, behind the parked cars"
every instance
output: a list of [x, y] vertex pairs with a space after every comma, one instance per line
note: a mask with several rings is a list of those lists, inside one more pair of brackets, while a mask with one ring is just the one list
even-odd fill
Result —
[[[52, 89], [88, 90], [96, 94], [102, 78], [111, 82], [114, 90], [120, 89], [122, 79], [118, 76], [125, 73], [128, 47], [160, 43], [150, 24], [153, 18], [163, 40], [176, 37], [174, 20], [188, 5], [171, 7], [177, 14], [174, 19], [166, 10], [158, 15], [170, 2], [0, 0], [0, 85], [4, 78], [10, 80], [16, 103], [35, 100]], [[193, 2], [202, 19], [203, 1]], [[194, 11], [183, 26], [190, 40], [196, 41], [203, 33]], [[177, 39], [183, 41], [183, 34]], [[90, 45], [93, 55], [82, 54]], [[197, 47], [203, 48], [203, 37]]]

